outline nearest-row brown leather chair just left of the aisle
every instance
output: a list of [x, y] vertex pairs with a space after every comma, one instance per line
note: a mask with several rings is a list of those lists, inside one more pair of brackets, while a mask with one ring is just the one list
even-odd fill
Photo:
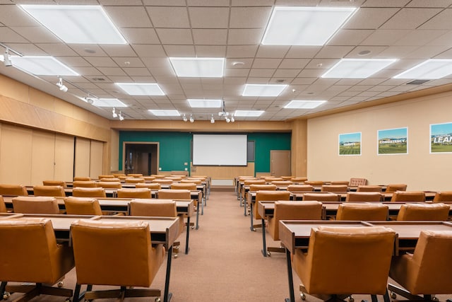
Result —
[[78, 301], [81, 284], [121, 286], [115, 291], [89, 288], [85, 300], [161, 295], [159, 289], [126, 288], [148, 288], [165, 258], [163, 245], [150, 240], [148, 223], [80, 219], [72, 223], [71, 234], [77, 275], [74, 301]]

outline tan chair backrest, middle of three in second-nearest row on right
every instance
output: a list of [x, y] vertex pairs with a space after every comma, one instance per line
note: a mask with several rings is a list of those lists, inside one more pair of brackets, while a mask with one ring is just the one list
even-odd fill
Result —
[[339, 204], [336, 220], [376, 221], [387, 220], [389, 207], [387, 204], [343, 203]]

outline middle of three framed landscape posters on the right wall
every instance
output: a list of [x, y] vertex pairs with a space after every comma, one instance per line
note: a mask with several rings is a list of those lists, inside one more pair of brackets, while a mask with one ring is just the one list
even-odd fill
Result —
[[408, 154], [408, 128], [378, 130], [378, 154]]

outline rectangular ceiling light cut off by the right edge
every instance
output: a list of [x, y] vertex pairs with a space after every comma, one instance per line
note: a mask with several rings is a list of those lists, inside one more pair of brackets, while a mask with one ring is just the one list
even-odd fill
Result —
[[441, 79], [452, 74], [452, 59], [429, 59], [401, 74], [396, 79]]

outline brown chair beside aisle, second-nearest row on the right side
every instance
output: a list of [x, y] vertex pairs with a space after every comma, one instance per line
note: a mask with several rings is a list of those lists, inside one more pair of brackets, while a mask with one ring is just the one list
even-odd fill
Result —
[[[321, 220], [323, 216], [323, 207], [321, 202], [275, 202], [273, 217], [268, 217], [267, 231], [273, 240], [280, 240], [280, 220]], [[267, 248], [267, 255], [271, 252], [285, 252], [285, 248]]]

